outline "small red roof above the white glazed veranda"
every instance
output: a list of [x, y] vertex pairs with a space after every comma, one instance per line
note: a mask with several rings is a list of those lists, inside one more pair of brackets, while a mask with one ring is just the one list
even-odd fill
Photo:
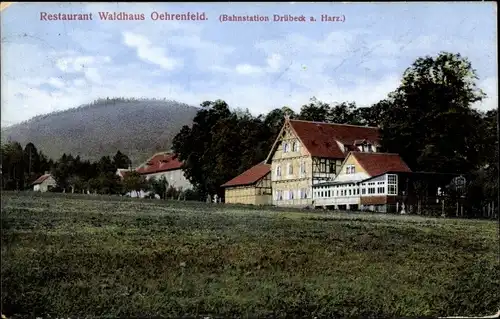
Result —
[[411, 172], [408, 165], [398, 154], [363, 152], [352, 152], [351, 154], [370, 176], [377, 176], [387, 172]]

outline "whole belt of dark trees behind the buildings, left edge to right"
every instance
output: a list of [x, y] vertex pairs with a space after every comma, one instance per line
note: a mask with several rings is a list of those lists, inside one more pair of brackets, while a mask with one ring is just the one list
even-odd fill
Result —
[[[498, 111], [473, 108], [486, 98], [477, 80], [467, 58], [442, 52], [416, 59], [396, 90], [367, 107], [358, 107], [354, 101], [326, 103], [313, 97], [299, 112], [284, 106], [254, 116], [248, 110], [231, 109], [223, 100], [205, 101], [192, 125], [182, 127], [175, 136], [172, 149], [199, 198], [208, 194], [223, 197], [223, 183], [267, 157], [285, 115], [377, 126], [383, 151], [400, 154], [413, 171], [466, 176], [468, 214], [474, 215], [484, 203], [496, 201], [498, 194]], [[151, 188], [135, 174], [129, 175], [132, 180], [119, 183], [116, 168], [129, 163], [121, 152], [95, 163], [65, 154], [52, 162], [34, 145], [23, 150], [12, 142], [2, 146], [3, 188], [22, 189], [45, 170], [52, 170], [63, 189], [78, 190], [85, 185], [101, 193], [119, 193], [124, 187]], [[156, 193], [164, 193], [156, 187]]]

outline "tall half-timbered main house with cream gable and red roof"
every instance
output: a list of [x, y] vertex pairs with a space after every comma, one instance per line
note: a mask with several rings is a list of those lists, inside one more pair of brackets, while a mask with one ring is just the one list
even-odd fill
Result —
[[379, 146], [376, 127], [286, 118], [266, 159], [273, 204], [312, 205], [313, 185], [333, 181], [350, 151], [376, 152]]

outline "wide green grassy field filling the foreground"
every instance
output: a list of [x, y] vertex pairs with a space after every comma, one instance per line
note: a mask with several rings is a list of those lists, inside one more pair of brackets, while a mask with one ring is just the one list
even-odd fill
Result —
[[495, 222], [2, 194], [2, 312], [490, 315]]

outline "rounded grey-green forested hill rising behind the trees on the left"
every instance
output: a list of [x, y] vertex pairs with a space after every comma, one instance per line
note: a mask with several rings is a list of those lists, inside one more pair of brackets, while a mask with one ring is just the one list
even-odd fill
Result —
[[99, 99], [2, 128], [2, 142], [32, 142], [54, 160], [63, 153], [97, 160], [120, 150], [136, 165], [155, 151], [169, 149], [197, 110], [168, 100]]

